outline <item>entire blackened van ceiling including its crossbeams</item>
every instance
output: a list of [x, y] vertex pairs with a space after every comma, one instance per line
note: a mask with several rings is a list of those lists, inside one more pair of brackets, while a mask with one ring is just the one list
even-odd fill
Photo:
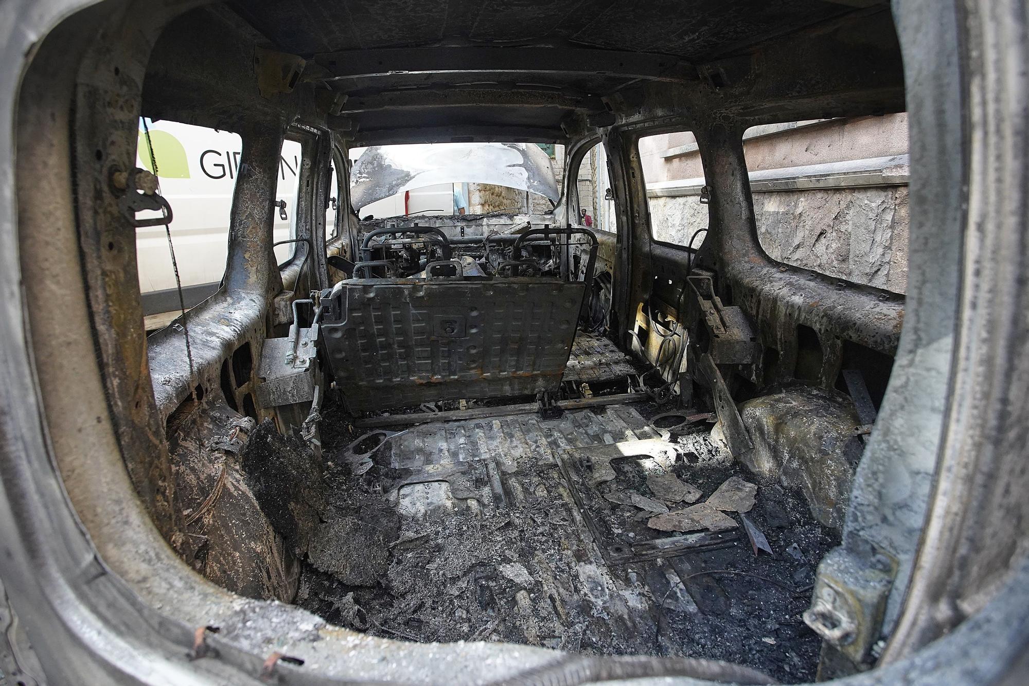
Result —
[[[689, 31], [682, 28], [675, 40], [651, 36], [618, 45], [573, 43], [569, 36], [578, 34], [568, 28], [591, 12], [609, 16], [616, 3], [521, 7], [503, 31], [522, 33], [508, 42], [481, 39], [488, 33], [482, 22], [500, 11], [489, 0], [482, 11], [463, 1], [431, 5], [434, 12], [473, 12], [478, 23], [458, 22], [432, 34], [427, 20], [417, 36], [415, 22], [403, 13], [412, 13], [411, 7], [398, 0], [376, 4], [385, 26], [356, 42], [340, 32], [364, 26], [367, 16], [347, 17], [354, 7], [370, 7], [363, 0], [258, 0], [245, 8], [215, 4], [190, 11], [173, 22], [154, 49], [144, 110], [228, 129], [254, 115], [285, 118], [346, 132], [353, 145], [381, 145], [567, 143], [598, 127], [648, 118], [685, 117], [694, 125], [728, 116], [754, 123], [759, 121], [749, 119], [903, 107], [899, 47], [889, 8], [881, 2], [741, 0], [726, 8], [705, 1], [683, 12], [652, 0], [637, 3], [638, 11], [619, 20], [617, 30], [639, 37], [648, 27], [654, 36], [665, 35], [665, 23], [678, 26], [688, 15]], [[554, 6], [563, 8], [560, 26], [540, 28]], [[422, 7], [415, 9], [421, 15]], [[324, 23], [313, 38], [305, 37], [312, 17]], [[760, 24], [760, 31], [741, 37], [728, 28], [742, 24]], [[598, 26], [593, 20], [589, 25]], [[394, 34], [410, 38], [409, 46], [392, 44]], [[253, 87], [256, 48], [292, 49], [305, 40], [315, 49], [294, 50], [304, 71], [293, 92], [261, 98]], [[689, 40], [704, 50], [684, 46]], [[728, 57], [698, 62], [697, 56]]]

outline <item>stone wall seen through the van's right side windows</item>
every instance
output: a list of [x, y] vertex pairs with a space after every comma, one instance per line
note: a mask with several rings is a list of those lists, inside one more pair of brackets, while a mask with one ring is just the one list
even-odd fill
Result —
[[[689, 132], [640, 140], [643, 176], [703, 184], [704, 168]], [[744, 134], [753, 172], [908, 152], [908, 116], [853, 117], [754, 127]], [[903, 293], [908, 286], [908, 188], [862, 186], [755, 192], [758, 239], [775, 260]], [[697, 195], [651, 197], [654, 238], [685, 245], [707, 225]], [[698, 237], [695, 247], [700, 245]]]

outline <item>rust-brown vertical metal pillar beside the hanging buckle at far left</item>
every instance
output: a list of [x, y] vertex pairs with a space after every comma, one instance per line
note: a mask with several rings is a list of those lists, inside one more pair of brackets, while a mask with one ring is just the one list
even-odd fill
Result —
[[[175, 475], [161, 414], [154, 407], [139, 285], [132, 277], [138, 270], [136, 229], [122, 210], [123, 192], [110, 183], [112, 174], [131, 174], [136, 166], [139, 93], [146, 52], [156, 41], [159, 27], [137, 28], [133, 33], [139, 42], [131, 44], [121, 40], [123, 29], [106, 27], [95, 36], [95, 49], [77, 65], [81, 80], [68, 101], [74, 102], [68, 123], [76, 135], [63, 173], [74, 170], [76, 221], [69, 225], [78, 229], [96, 352], [106, 370], [104, 406], [110, 408], [137, 493], [162, 534], [181, 549], [185, 540]], [[185, 397], [191, 389], [183, 391]]]

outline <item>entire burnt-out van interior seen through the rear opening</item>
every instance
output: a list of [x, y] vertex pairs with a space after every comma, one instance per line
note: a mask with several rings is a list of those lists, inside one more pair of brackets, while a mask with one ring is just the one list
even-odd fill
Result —
[[[907, 111], [889, 3], [112, 0], [25, 83], [20, 164], [44, 181], [19, 211], [50, 228], [23, 240], [75, 264], [27, 288], [83, 305], [30, 324], [66, 341], [47, 373], [105, 398], [122, 474], [58, 466], [197, 669], [757, 684], [889, 653], [932, 470], [877, 443], [906, 297], [770, 256], [745, 151], [753, 128]], [[148, 332], [137, 231], [173, 261], [188, 240], [144, 143], [166, 121], [241, 154], [223, 276]], [[698, 160], [681, 239], [645, 178], [666, 134]], [[430, 184], [446, 207], [362, 212]], [[517, 203], [474, 211], [469, 184]]]

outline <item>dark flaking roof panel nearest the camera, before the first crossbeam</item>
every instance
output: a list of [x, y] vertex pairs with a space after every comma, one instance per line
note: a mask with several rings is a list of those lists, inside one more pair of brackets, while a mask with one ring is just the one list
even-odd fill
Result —
[[278, 49], [549, 44], [667, 53], [700, 63], [886, 0], [248, 0], [230, 6]]

